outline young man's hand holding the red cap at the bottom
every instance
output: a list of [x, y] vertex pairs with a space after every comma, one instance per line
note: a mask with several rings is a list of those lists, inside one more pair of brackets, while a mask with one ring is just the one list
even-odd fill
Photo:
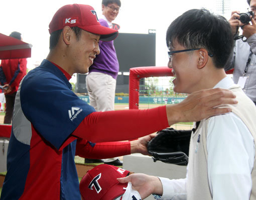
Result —
[[139, 191], [142, 199], [152, 193], [163, 194], [163, 186], [160, 179], [153, 175], [133, 173], [123, 178], [117, 178], [117, 180], [121, 183], [132, 182], [133, 189]]

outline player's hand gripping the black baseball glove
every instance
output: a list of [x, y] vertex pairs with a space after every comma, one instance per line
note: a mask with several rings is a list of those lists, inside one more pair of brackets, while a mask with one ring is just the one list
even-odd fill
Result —
[[150, 155], [148, 152], [148, 142], [156, 136], [156, 133], [152, 133], [141, 137], [137, 140], [131, 141], [131, 153], [142, 153], [144, 155]]

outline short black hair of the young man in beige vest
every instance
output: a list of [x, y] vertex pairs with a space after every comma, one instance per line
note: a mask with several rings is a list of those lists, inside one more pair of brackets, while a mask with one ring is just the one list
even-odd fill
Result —
[[169, 48], [174, 40], [185, 48], [205, 48], [213, 54], [213, 63], [217, 68], [224, 67], [233, 46], [228, 21], [204, 8], [190, 9], [171, 23], [166, 34]]

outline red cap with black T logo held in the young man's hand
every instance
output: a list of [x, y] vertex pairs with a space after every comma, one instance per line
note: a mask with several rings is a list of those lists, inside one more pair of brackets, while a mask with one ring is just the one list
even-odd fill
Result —
[[112, 200], [121, 196], [127, 183], [120, 183], [116, 178], [125, 177], [129, 173], [128, 170], [109, 164], [99, 164], [88, 170], [79, 185], [83, 200]]

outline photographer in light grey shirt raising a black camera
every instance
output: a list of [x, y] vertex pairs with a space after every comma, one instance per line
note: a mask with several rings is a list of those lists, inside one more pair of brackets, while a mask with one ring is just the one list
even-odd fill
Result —
[[[256, 0], [247, 0], [251, 13], [245, 12], [248, 23], [242, 23], [241, 13], [232, 11], [229, 23], [234, 35], [234, 51], [225, 65], [225, 70], [234, 68], [233, 80], [239, 84], [246, 95], [256, 104]], [[252, 15], [251, 15], [252, 14]], [[242, 28], [243, 38], [237, 39]], [[244, 38], [246, 37], [246, 39]]]

